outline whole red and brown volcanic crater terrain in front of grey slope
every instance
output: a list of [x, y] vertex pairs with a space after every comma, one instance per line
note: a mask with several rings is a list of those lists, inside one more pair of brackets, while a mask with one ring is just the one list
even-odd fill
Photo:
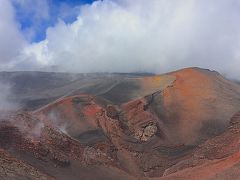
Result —
[[[41, 122], [39, 135], [26, 136], [26, 124], [11, 123], [24, 141], [2, 149], [57, 179], [238, 177], [239, 85], [216, 72], [188, 68], [109, 87], [20, 115], [23, 122]], [[32, 132], [36, 125], [27, 127]], [[33, 150], [23, 156], [20, 144]]]

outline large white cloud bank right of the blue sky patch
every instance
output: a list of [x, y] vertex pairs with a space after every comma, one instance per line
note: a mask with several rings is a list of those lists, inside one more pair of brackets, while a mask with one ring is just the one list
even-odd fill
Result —
[[75, 22], [48, 28], [44, 41], [22, 51], [16, 68], [165, 72], [200, 66], [240, 77], [239, 10], [239, 0], [97, 1], [81, 6]]

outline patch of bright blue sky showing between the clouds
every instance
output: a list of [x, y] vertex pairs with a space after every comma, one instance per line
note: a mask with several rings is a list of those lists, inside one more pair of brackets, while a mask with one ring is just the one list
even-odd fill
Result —
[[[23, 3], [22, 0], [13, 0], [20, 29], [30, 42], [39, 42], [45, 39], [46, 29], [54, 26], [59, 18], [66, 23], [72, 23], [76, 20], [79, 7], [84, 4], [91, 4], [94, 0], [37, 0], [35, 3], [40, 1], [46, 3], [32, 4]], [[28, 0], [25, 2], [28, 2]], [[37, 7], [38, 4], [46, 6], [44, 9], [47, 9], [47, 17], [37, 17], [39, 8], [42, 8]], [[35, 5], [36, 7], [34, 7]]]

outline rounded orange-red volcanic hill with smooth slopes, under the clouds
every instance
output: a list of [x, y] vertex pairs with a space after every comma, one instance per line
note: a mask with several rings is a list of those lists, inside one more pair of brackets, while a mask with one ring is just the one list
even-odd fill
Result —
[[222, 132], [239, 110], [239, 86], [198, 68], [170, 74], [176, 81], [155, 96], [151, 109], [165, 122], [171, 140], [195, 144]]

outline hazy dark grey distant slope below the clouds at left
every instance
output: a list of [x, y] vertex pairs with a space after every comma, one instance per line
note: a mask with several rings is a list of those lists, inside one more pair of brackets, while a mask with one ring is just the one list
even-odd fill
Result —
[[11, 87], [9, 101], [34, 110], [62, 96], [87, 92], [103, 93], [116, 82], [128, 77], [151, 74], [120, 73], [53, 73], [53, 72], [0, 72], [0, 82]]

